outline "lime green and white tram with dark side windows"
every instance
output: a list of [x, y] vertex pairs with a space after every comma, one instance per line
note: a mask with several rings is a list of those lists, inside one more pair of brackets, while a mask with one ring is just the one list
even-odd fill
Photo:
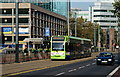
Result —
[[73, 36], [51, 37], [51, 60], [91, 56], [91, 40]]

